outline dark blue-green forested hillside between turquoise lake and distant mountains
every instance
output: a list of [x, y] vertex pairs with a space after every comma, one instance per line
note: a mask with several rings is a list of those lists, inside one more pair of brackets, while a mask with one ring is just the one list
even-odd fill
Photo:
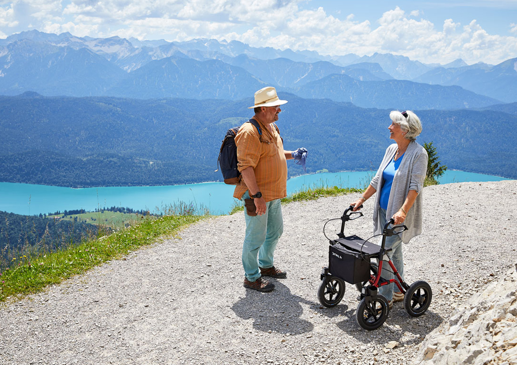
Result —
[[[289, 101], [278, 122], [284, 147], [309, 150], [307, 172], [377, 167], [390, 144], [389, 109], [281, 97]], [[0, 181], [122, 186], [221, 180], [214, 170], [222, 137], [252, 116], [250, 105], [252, 98], [0, 97]], [[517, 116], [511, 110], [497, 118], [491, 110], [415, 112], [423, 124], [418, 141], [433, 141], [450, 169], [517, 177]], [[291, 176], [302, 173], [299, 165], [288, 167]]]

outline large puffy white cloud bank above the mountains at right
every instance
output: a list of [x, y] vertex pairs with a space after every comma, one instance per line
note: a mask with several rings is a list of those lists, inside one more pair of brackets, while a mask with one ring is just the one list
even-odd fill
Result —
[[[352, 17], [334, 18], [323, 8], [301, 10], [284, 28], [276, 29], [280, 34], [269, 37], [267, 45], [329, 55], [394, 53], [428, 63], [463, 58], [467, 63], [497, 64], [517, 55], [516, 37], [490, 35], [476, 21], [461, 27], [447, 19], [439, 29], [428, 20], [409, 15], [396, 7], [386, 11], [373, 27], [369, 21], [354, 22]], [[227, 38], [232, 39], [232, 35]], [[264, 38], [255, 38], [264, 45]], [[257, 46], [252, 40], [249, 43]]]

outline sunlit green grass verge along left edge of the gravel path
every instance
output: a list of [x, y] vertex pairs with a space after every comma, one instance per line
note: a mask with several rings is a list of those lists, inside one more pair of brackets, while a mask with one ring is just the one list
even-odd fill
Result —
[[57, 284], [94, 266], [124, 257], [128, 252], [153, 244], [161, 236], [175, 234], [203, 217], [172, 215], [148, 218], [137, 226], [56, 252], [14, 258], [11, 266], [0, 273], [0, 301], [36, 293], [47, 285]]

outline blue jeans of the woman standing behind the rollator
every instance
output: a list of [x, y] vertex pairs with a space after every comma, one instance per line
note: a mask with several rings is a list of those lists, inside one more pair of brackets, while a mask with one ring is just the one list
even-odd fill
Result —
[[[381, 227], [384, 228], [384, 225], [386, 224], [386, 210], [379, 207], [379, 221], [381, 223]], [[389, 228], [393, 227], [392, 225], [389, 226]], [[402, 239], [398, 234], [393, 234], [390, 237], [386, 237], [386, 245], [385, 248], [391, 248], [391, 251], [388, 252], [388, 255], [391, 257], [391, 261], [393, 262], [393, 265], [397, 268], [397, 271], [400, 274], [400, 277], [404, 279], [404, 262], [402, 260]], [[389, 279], [397, 279], [395, 275], [393, 275], [393, 271], [391, 270], [390, 265], [388, 264], [388, 261], [383, 261], [383, 272], [381, 274], [383, 279], [389, 280]], [[397, 279], [398, 281], [398, 279]], [[383, 285], [379, 288], [379, 294], [384, 295], [386, 299], [392, 300], [393, 299], [393, 290], [396, 289], [398, 292], [398, 288], [394, 288], [394, 283], [391, 283], [389, 285]]]

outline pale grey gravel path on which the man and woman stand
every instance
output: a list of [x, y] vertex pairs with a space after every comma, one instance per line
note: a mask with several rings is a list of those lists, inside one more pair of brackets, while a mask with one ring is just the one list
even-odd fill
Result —
[[[282, 207], [276, 262], [288, 277], [272, 279], [271, 293], [242, 287], [242, 213], [209, 218], [179, 239], [1, 306], [0, 363], [407, 364], [453, 308], [513, 265], [516, 191], [517, 181], [424, 189], [423, 233], [403, 247], [406, 281], [433, 289], [418, 319], [396, 303], [381, 328], [363, 330], [348, 284], [336, 308], [318, 303], [328, 264], [322, 228], [358, 197], [350, 194]], [[370, 237], [370, 201], [363, 213], [347, 234]], [[329, 237], [338, 225], [327, 225]]]

